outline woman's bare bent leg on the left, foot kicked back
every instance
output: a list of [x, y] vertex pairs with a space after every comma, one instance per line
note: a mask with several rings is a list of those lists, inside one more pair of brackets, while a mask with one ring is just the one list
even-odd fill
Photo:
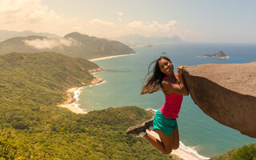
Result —
[[162, 133], [161, 130], [154, 131], [159, 135], [161, 142], [150, 134], [146, 134], [144, 138], [146, 138], [154, 147], [160, 150], [162, 154], [170, 154], [170, 152], [173, 150], [174, 134], [166, 135]]

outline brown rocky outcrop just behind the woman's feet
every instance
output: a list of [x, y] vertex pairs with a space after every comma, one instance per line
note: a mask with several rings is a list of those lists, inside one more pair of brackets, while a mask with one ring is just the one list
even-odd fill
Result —
[[128, 130], [126, 130], [126, 134], [140, 134], [141, 132], [146, 132], [146, 129], [150, 129], [150, 126], [153, 126], [153, 118], [142, 122], [141, 124], [138, 124], [136, 126], [130, 126]]

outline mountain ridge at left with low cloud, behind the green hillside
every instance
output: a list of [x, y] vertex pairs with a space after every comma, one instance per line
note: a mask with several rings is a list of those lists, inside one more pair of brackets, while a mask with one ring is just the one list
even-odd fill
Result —
[[66, 34], [63, 38], [29, 36], [10, 38], [0, 43], [0, 54], [42, 51], [54, 51], [71, 57], [86, 59], [135, 53], [134, 50], [122, 44], [122, 42], [94, 36], [90, 37], [78, 32]]

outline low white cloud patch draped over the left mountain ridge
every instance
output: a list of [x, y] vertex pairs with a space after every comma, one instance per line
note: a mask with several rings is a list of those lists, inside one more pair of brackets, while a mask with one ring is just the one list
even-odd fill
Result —
[[24, 40], [26, 46], [33, 46], [36, 49], [52, 49], [55, 47], [62, 48], [63, 46], [78, 46], [79, 42], [73, 38], [43, 38], [34, 40]]

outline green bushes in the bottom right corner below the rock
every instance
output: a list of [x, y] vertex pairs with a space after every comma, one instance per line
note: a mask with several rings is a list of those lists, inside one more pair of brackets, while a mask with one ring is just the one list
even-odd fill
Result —
[[256, 160], [256, 144], [242, 146], [241, 148], [230, 150], [218, 157], [210, 160]]

